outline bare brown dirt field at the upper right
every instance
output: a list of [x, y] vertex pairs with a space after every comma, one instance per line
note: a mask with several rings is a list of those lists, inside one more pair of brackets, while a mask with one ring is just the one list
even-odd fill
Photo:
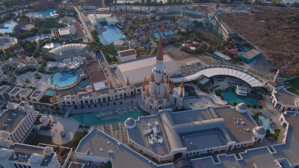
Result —
[[299, 10], [253, 8], [246, 13], [223, 13], [221, 19], [230, 32], [238, 32], [263, 51], [271, 60], [269, 66], [265, 64], [266, 68], [281, 67], [284, 76], [290, 76], [298, 69]]

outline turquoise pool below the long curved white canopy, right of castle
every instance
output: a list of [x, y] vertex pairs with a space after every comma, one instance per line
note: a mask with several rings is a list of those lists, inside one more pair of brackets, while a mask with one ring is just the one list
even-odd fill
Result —
[[238, 104], [244, 102], [246, 105], [250, 104], [250, 106], [259, 105], [257, 99], [251, 97], [245, 97], [245, 98], [238, 97], [236, 96], [233, 90], [229, 90], [227, 92], [221, 92], [221, 93], [224, 95], [223, 100], [227, 101], [229, 104], [233, 104], [234, 102]]

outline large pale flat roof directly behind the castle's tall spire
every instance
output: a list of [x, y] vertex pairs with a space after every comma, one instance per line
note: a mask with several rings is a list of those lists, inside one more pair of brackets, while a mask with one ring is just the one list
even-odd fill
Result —
[[[125, 78], [129, 77], [130, 82], [144, 80], [145, 76], [147, 79], [150, 77], [150, 72], [155, 64], [155, 56], [151, 55], [143, 58], [138, 58], [130, 61], [117, 63], [119, 70], [122, 72]], [[164, 65], [166, 73], [181, 71], [180, 67], [166, 54], [163, 54]], [[160, 80], [160, 79], [159, 79]]]

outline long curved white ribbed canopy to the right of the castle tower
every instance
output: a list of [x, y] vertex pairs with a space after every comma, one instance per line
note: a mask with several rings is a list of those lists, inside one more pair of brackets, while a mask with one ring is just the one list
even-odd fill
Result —
[[202, 75], [208, 78], [216, 75], [227, 75], [227, 76], [233, 76], [242, 79], [243, 81], [247, 82], [251, 87], [264, 86], [263, 80], [260, 79], [258, 76], [239, 68], [213, 65], [213, 66], [202, 67], [200, 69], [202, 70], [200, 70], [195, 74], [185, 76], [185, 77], [180, 77], [180, 78], [171, 78], [171, 80], [173, 79], [174, 83], [179, 83], [182, 81], [182, 79], [184, 80], [184, 82], [188, 82], [188, 81], [195, 80], [201, 77]]

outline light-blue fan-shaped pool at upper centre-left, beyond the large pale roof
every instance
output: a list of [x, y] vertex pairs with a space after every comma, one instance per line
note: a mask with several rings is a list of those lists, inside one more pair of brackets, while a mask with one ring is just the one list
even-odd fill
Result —
[[103, 35], [98, 35], [98, 37], [100, 38], [100, 42], [103, 44], [109, 44], [110, 42], [113, 42], [115, 40], [127, 38], [127, 35], [122, 34], [121, 29], [116, 25], [106, 25], [103, 27], [107, 30], [102, 33]]

